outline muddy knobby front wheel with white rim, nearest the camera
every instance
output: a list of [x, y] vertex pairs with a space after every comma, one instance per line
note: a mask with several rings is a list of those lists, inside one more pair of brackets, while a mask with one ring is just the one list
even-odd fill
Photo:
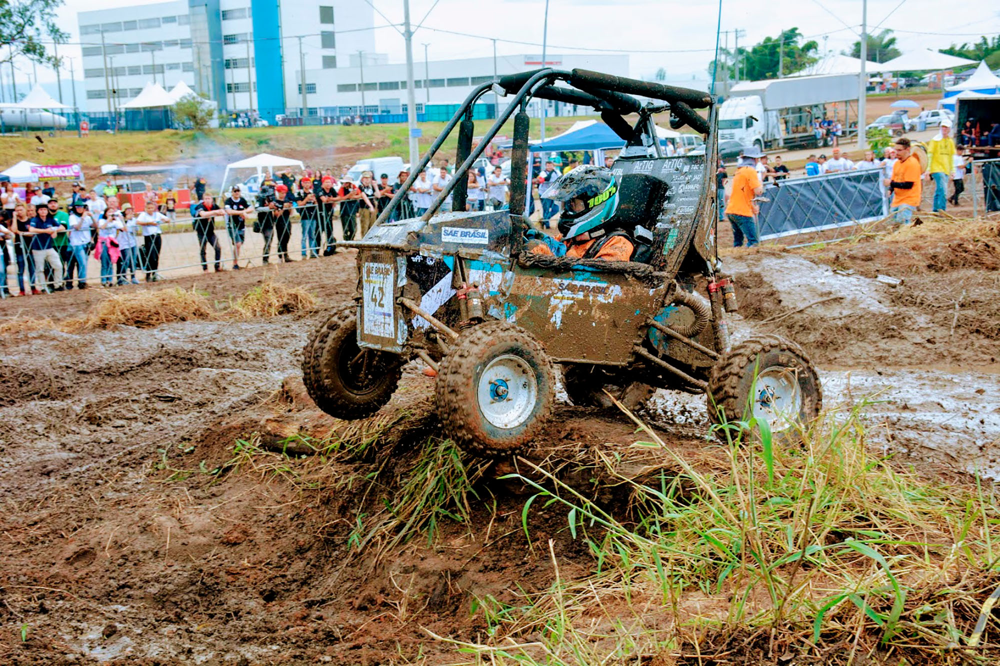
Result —
[[530, 333], [486, 322], [442, 359], [436, 399], [445, 434], [464, 451], [509, 456], [535, 441], [552, 416], [555, 368]]

